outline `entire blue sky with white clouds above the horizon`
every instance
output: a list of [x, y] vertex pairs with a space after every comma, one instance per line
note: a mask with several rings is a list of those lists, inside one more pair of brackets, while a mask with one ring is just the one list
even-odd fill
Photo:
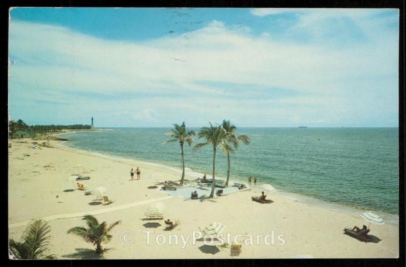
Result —
[[396, 9], [14, 8], [9, 116], [397, 127]]

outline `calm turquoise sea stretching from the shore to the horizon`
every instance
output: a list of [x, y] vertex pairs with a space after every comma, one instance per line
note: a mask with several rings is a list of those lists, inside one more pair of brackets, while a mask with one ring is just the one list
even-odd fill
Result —
[[[167, 131], [115, 128], [63, 136], [73, 148], [180, 169], [179, 144], [163, 144]], [[247, 181], [252, 175], [285, 192], [398, 214], [398, 128], [240, 128], [238, 134], [252, 143], [231, 156], [231, 179]], [[211, 147], [186, 147], [186, 167], [211, 174], [212, 152]], [[219, 150], [216, 176], [226, 177], [226, 171]]]

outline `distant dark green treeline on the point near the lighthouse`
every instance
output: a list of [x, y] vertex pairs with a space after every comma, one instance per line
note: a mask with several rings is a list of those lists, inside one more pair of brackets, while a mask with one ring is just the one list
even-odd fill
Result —
[[62, 131], [63, 129], [70, 129], [70, 130], [79, 130], [79, 129], [91, 129], [91, 125], [83, 125], [83, 124], [74, 124], [74, 125], [27, 125], [21, 119], [15, 121], [9, 121], [9, 129], [11, 134], [16, 130], [26, 130], [35, 133], [45, 133], [45, 132], [55, 132], [55, 131]]

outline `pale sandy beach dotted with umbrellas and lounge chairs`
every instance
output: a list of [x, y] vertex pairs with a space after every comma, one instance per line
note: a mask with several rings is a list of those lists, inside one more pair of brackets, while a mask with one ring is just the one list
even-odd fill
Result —
[[[75, 151], [60, 146], [61, 141], [49, 141], [50, 147], [38, 148], [32, 147], [33, 142], [43, 141], [10, 141], [9, 236], [19, 240], [29, 220], [44, 218], [52, 228], [50, 253], [59, 259], [99, 258], [91, 244], [66, 234], [71, 227], [84, 225], [81, 217], [84, 214], [95, 214], [100, 222], [121, 220], [112, 231], [112, 241], [104, 245], [109, 249], [103, 257], [107, 259], [292, 258], [296, 254], [315, 258], [398, 257], [397, 224], [372, 224], [370, 235], [377, 242], [364, 243], [343, 234], [345, 227], [368, 225], [360, 216], [298, 203], [272, 193], [268, 193], [267, 198], [273, 203], [259, 204], [251, 201], [251, 196], [260, 194], [254, 189], [202, 200], [172, 196], [159, 190], [165, 180], [179, 181], [180, 174], [170, 169]], [[75, 168], [78, 164], [83, 168]], [[141, 180], [130, 181], [130, 170], [137, 166], [142, 170]], [[81, 183], [90, 189], [106, 187], [106, 195], [115, 202], [101, 205], [93, 200], [94, 196], [84, 195], [84, 191], [70, 190], [72, 183], [69, 185], [67, 179], [79, 173], [91, 177]], [[149, 179], [155, 174], [159, 174], [156, 179]], [[186, 177], [189, 183], [195, 178]], [[154, 186], [158, 188], [152, 188]], [[154, 202], [164, 204], [165, 219], [179, 220], [181, 224], [166, 231], [163, 220], [142, 220], [146, 208]], [[189, 240], [184, 248], [182, 241], [178, 245], [156, 243], [157, 235], [186, 237], [198, 231], [199, 226], [211, 222], [223, 223], [223, 233], [229, 232], [232, 236], [264, 236], [273, 232], [274, 245], [263, 241], [259, 245], [243, 244], [241, 254], [231, 257], [229, 247], [208, 246], [202, 241], [193, 245]], [[157, 227], [151, 228], [150, 225]], [[120, 241], [125, 231], [134, 233], [133, 244], [125, 245]], [[149, 245], [147, 234], [142, 231], [154, 231]], [[278, 235], [283, 235], [283, 245]]]

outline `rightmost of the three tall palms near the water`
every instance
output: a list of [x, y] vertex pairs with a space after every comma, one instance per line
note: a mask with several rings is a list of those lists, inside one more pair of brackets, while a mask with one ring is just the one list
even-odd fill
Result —
[[[227, 181], [225, 182], [225, 186], [228, 186], [228, 181], [230, 180], [230, 170], [231, 170], [231, 163], [230, 163], [230, 153], [235, 153], [234, 149], [238, 148], [239, 142], [243, 142], [244, 144], [248, 145], [251, 143], [250, 138], [247, 135], [242, 135], [242, 136], [235, 136], [235, 131], [237, 127], [235, 125], [230, 124], [229, 120], [223, 120], [222, 124], [224, 130], [228, 132], [228, 137], [227, 139], [223, 140], [223, 150], [225, 155], [227, 156], [227, 163], [228, 163], [228, 171], [227, 171]], [[230, 142], [232, 146], [228, 144]]]

